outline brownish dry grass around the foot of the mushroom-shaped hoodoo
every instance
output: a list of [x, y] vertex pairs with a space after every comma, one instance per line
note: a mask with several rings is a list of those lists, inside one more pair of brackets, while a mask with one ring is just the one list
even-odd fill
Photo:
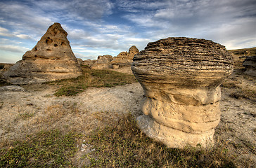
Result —
[[96, 149], [87, 158], [91, 167], [235, 167], [225, 146], [167, 148], [146, 137], [131, 115], [88, 137]]

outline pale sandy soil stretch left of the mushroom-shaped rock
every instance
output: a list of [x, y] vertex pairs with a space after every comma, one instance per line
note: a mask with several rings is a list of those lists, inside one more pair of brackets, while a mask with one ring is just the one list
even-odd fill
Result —
[[[17, 139], [48, 127], [89, 131], [97, 120], [122, 113], [140, 113], [143, 90], [139, 83], [117, 87], [91, 87], [74, 97], [55, 97], [51, 85], [27, 85], [25, 92], [1, 92], [1, 139]], [[46, 123], [45, 123], [46, 122]], [[49, 124], [47, 124], [49, 123]], [[53, 125], [50, 125], [53, 123]], [[79, 127], [79, 125], [81, 125]], [[91, 125], [91, 127], [89, 127]]]

